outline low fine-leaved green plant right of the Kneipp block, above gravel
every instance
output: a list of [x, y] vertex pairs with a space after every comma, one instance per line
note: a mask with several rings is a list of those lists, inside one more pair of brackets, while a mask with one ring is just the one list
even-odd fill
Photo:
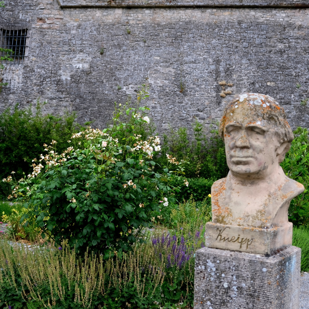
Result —
[[300, 270], [309, 272], [309, 226], [293, 227], [292, 244], [302, 249]]

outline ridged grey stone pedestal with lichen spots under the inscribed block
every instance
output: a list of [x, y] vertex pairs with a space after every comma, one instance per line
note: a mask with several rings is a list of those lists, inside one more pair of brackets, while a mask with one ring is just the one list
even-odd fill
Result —
[[299, 309], [300, 255], [294, 246], [269, 257], [198, 250], [194, 309]]

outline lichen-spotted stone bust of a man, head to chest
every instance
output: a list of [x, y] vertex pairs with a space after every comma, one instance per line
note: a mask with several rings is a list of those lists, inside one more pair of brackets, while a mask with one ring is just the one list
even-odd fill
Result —
[[268, 95], [238, 95], [224, 110], [219, 134], [230, 171], [211, 188], [212, 222], [291, 229], [290, 201], [304, 187], [279, 165], [294, 139], [283, 108]]

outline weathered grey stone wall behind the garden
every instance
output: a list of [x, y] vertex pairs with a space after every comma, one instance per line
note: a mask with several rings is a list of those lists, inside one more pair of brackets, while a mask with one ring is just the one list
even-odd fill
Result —
[[220, 96], [224, 80], [232, 94], [273, 96], [293, 129], [308, 127], [309, 4], [277, 2], [6, 0], [0, 25], [26, 23], [28, 47], [23, 64], [5, 65], [0, 111], [40, 98], [102, 127], [148, 83], [160, 133], [207, 127], [232, 97]]

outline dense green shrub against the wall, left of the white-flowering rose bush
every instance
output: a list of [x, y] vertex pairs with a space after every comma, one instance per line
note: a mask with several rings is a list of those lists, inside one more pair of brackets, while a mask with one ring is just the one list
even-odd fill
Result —
[[[35, 112], [32, 106], [19, 109], [6, 108], [0, 115], [0, 177], [1, 179], [15, 171], [17, 179], [31, 172], [32, 159], [42, 153], [43, 143], [57, 140], [57, 151], [67, 148], [67, 140], [72, 133], [78, 132], [74, 121], [76, 114], [53, 116], [42, 114], [42, 106], [37, 102]], [[6, 198], [10, 192], [7, 183], [0, 184], [0, 198]]]

